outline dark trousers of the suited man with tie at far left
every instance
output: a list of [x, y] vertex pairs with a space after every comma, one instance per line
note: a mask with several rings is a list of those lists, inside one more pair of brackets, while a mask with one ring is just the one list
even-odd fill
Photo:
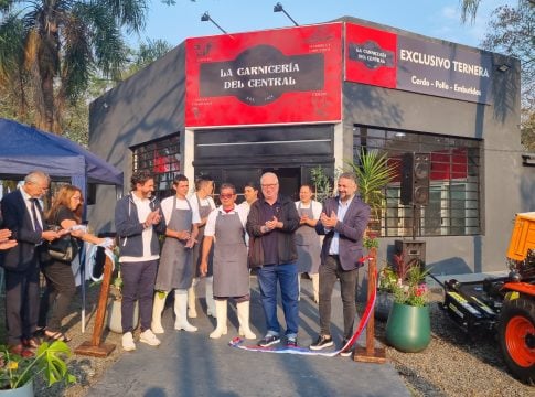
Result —
[[35, 332], [39, 316], [39, 267], [24, 271], [6, 270], [6, 325], [8, 344], [21, 343]]

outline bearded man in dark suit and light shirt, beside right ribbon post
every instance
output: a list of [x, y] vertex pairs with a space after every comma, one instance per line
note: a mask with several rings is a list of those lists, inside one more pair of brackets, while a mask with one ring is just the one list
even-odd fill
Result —
[[[355, 321], [355, 291], [359, 261], [362, 257], [362, 240], [370, 219], [370, 206], [356, 195], [356, 179], [344, 172], [338, 181], [336, 197], [328, 198], [315, 225], [315, 232], [325, 235], [321, 249], [320, 266], [320, 335], [310, 345], [322, 350], [334, 343], [331, 336], [331, 296], [336, 279], [340, 288], [344, 315], [344, 341], [353, 334]], [[351, 354], [351, 353], [350, 353]]]

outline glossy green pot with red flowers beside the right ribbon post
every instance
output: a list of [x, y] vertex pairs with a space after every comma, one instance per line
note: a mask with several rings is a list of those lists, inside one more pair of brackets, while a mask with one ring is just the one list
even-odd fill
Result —
[[405, 266], [400, 260], [400, 264], [399, 278], [394, 285], [394, 304], [386, 323], [386, 340], [402, 352], [415, 353], [431, 341], [430, 291], [425, 282], [429, 270], [419, 261]]

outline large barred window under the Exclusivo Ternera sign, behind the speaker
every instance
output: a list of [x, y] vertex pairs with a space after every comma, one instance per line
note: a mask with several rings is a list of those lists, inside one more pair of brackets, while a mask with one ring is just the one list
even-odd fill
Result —
[[[362, 149], [385, 153], [396, 169], [396, 178], [385, 189], [382, 236], [481, 234], [482, 140], [355, 126], [355, 162]], [[402, 158], [406, 153], [429, 154], [429, 200], [425, 205], [400, 204]]]

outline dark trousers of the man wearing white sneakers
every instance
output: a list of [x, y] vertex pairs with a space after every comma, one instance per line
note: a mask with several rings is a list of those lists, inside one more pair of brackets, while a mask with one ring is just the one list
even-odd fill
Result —
[[152, 321], [152, 300], [154, 297], [156, 273], [158, 260], [120, 264], [122, 276], [122, 332], [133, 331], [133, 303], [139, 300], [139, 318], [141, 332], [150, 329]]

